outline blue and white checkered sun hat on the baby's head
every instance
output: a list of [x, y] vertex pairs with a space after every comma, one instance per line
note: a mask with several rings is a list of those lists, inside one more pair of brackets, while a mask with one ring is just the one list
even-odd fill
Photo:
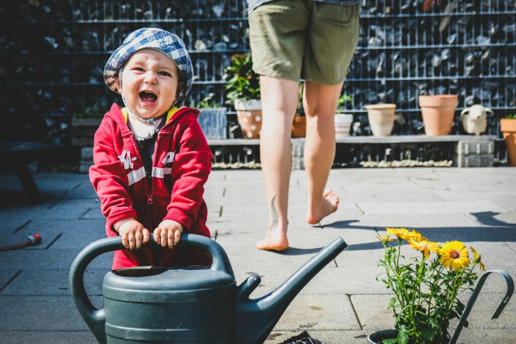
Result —
[[146, 48], [162, 52], [178, 65], [180, 72], [186, 79], [186, 87], [181, 90], [172, 105], [180, 105], [186, 99], [186, 95], [192, 86], [193, 66], [186, 51], [185, 43], [183, 43], [181, 38], [162, 29], [144, 27], [131, 32], [127, 36], [122, 45], [111, 54], [107, 60], [106, 67], [104, 67], [104, 80], [107, 86], [111, 90], [120, 93], [115, 84], [120, 68], [131, 55], [138, 50]]

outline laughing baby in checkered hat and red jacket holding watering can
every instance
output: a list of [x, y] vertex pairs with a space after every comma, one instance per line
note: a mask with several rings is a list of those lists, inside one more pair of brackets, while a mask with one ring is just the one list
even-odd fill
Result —
[[[174, 248], [182, 232], [210, 237], [203, 192], [213, 155], [199, 110], [176, 107], [193, 79], [183, 41], [158, 28], [136, 30], [109, 57], [104, 79], [125, 104], [105, 114], [89, 171], [107, 235], [130, 249], [115, 252], [112, 268], [211, 264], [201, 251]], [[161, 247], [139, 250], [149, 231]]]

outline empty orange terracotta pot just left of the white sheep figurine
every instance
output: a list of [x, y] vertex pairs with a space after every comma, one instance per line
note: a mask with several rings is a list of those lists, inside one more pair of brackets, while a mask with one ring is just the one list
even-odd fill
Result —
[[427, 136], [448, 135], [459, 103], [456, 94], [420, 95], [419, 105]]

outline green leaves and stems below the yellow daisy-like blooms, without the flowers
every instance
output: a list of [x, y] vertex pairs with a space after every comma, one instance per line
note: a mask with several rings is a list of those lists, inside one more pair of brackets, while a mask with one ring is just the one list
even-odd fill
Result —
[[457, 299], [460, 292], [471, 289], [477, 274], [473, 267], [457, 271], [445, 268], [440, 257], [425, 259], [401, 254], [401, 245], [385, 247], [378, 266], [384, 273], [377, 276], [394, 297], [388, 308], [393, 310], [396, 339], [384, 343], [442, 343], [446, 340], [450, 319], [458, 318], [464, 305]]

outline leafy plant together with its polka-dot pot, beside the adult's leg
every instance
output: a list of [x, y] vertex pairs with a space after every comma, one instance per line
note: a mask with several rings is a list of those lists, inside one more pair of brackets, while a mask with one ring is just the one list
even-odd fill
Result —
[[233, 55], [224, 70], [226, 97], [236, 110], [238, 124], [245, 138], [259, 138], [262, 128], [260, 76], [252, 70], [251, 53]]

